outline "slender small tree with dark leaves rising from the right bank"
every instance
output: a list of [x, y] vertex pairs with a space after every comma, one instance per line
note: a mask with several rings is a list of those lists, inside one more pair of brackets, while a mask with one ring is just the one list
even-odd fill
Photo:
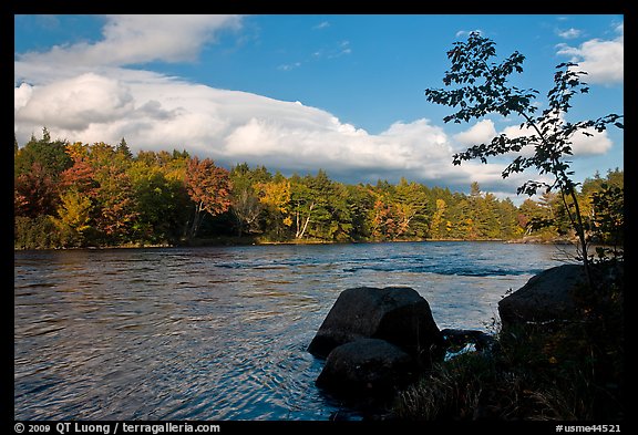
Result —
[[[548, 106], [541, 115], [536, 115], [536, 106], [532, 103], [538, 91], [522, 90], [508, 83], [510, 75], [523, 72], [525, 56], [515, 51], [503, 62], [495, 63], [492, 61], [496, 56], [494, 45], [493, 41], [477, 32], [472, 32], [467, 42], [455, 42], [454, 48], [447, 52], [452, 66], [443, 77], [445, 86], [453, 89], [428, 89], [425, 96], [428, 101], [436, 104], [460, 107], [457, 112], [445, 116], [444, 122], [469, 122], [471, 118], [478, 120], [490, 114], [518, 115], [523, 118], [521, 130], [525, 134], [517, 137], [501, 134], [488, 144], [474, 145], [464, 153], [455, 154], [453, 164], [460, 165], [463, 160], [474, 158], [487, 163], [487, 157], [491, 156], [515, 154], [514, 160], [503, 170], [503, 178], [529, 167], [536, 168], [539, 175], [550, 175], [552, 183], [528, 180], [518, 187], [517, 193], [532, 196], [542, 189], [546, 193], [559, 191], [578, 237], [579, 257], [591, 286], [585, 226], [576, 196], [577, 183], [572, 179], [574, 172], [569, 170], [570, 162], [565, 157], [572, 155], [572, 141], [577, 133], [590, 136], [593, 130], [604, 132], [609, 124], [622, 128], [622, 124], [618, 122], [622, 115], [609, 114], [576, 123], [565, 120], [565, 114], [572, 107], [572, 97], [588, 92], [586, 83], [580, 82], [580, 76], [587, 73], [577, 70], [577, 64], [572, 62], [556, 66], [554, 87], [547, 92]], [[526, 147], [533, 147], [534, 153], [523, 154], [522, 151]]]

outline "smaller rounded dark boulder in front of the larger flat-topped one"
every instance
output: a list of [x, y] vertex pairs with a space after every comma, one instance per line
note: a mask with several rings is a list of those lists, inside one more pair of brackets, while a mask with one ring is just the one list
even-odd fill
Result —
[[415, 379], [414, 359], [379, 339], [360, 339], [332, 350], [317, 386], [341, 396], [379, 396]]

